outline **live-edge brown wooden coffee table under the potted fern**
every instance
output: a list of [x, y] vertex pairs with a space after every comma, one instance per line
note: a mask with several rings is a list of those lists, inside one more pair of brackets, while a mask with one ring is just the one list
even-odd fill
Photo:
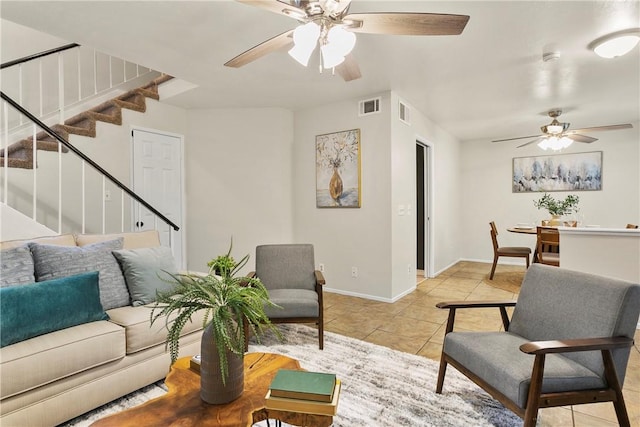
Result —
[[297, 360], [272, 353], [244, 356], [244, 392], [231, 403], [210, 405], [200, 399], [200, 376], [189, 369], [190, 357], [173, 364], [165, 384], [169, 391], [135, 408], [105, 417], [94, 427], [169, 426], [252, 426], [258, 421], [277, 419], [297, 426], [328, 427], [333, 417], [267, 410], [265, 395], [278, 369], [301, 369]]

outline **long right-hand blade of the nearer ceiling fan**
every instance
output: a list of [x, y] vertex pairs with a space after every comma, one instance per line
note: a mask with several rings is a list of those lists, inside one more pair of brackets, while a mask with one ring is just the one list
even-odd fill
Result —
[[350, 13], [343, 21], [362, 22], [353, 26], [357, 33], [443, 36], [462, 33], [469, 21], [468, 15], [448, 15], [439, 13]]

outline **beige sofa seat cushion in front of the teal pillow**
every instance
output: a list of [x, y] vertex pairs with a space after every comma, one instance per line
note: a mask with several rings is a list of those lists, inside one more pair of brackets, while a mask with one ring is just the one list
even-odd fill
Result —
[[124, 329], [106, 320], [3, 347], [0, 349], [0, 396], [6, 399], [120, 360], [124, 357], [124, 348]]

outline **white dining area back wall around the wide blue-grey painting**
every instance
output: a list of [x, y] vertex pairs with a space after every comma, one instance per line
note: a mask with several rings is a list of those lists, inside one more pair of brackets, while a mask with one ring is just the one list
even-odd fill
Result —
[[[586, 224], [624, 227], [640, 223], [640, 123], [633, 129], [599, 132], [591, 144], [574, 143], [564, 153], [602, 151], [602, 191], [552, 193], [555, 197], [577, 194], [580, 214]], [[535, 144], [516, 148], [517, 141], [491, 143], [470, 141], [462, 146], [463, 220], [461, 244], [464, 259], [490, 261], [493, 249], [489, 222], [498, 227], [502, 246], [530, 246], [535, 238], [514, 234], [506, 228], [518, 222], [540, 221], [548, 215], [533, 206], [543, 193], [512, 193], [511, 173], [514, 157], [548, 155]], [[500, 260], [501, 262], [503, 260]], [[504, 260], [505, 262], [516, 262]]]

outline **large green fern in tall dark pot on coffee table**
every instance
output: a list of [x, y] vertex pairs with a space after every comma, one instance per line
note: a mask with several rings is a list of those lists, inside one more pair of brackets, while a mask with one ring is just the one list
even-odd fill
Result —
[[[264, 307], [275, 306], [260, 279], [236, 276], [249, 260], [249, 255], [233, 262], [229, 252], [224, 267], [211, 260], [208, 274], [169, 274], [175, 287], [159, 292], [151, 312], [151, 323], [167, 322], [166, 344], [175, 362], [179, 354], [179, 338], [192, 315], [205, 310], [201, 344], [200, 397], [207, 403], [222, 404], [238, 398], [244, 389], [245, 325], [259, 336], [272, 329], [278, 337]], [[231, 263], [229, 263], [231, 261]], [[217, 274], [216, 267], [221, 267]], [[174, 317], [169, 317], [174, 315]], [[171, 319], [171, 320], [170, 320]]]

